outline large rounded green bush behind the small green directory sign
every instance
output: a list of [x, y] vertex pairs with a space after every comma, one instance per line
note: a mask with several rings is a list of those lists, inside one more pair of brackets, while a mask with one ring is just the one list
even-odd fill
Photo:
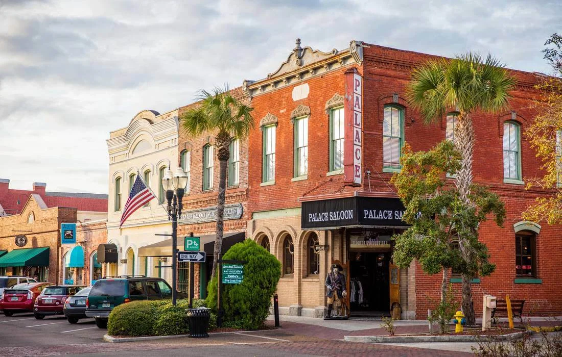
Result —
[[[269, 251], [247, 239], [233, 245], [225, 260], [246, 260], [240, 284], [224, 284], [224, 321], [244, 329], [259, 328], [268, 317], [271, 298], [281, 276], [281, 263]], [[217, 310], [217, 277], [207, 287], [207, 306]]]

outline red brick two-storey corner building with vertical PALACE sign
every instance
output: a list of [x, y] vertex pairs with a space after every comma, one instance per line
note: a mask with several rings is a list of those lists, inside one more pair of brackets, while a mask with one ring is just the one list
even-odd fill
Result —
[[[425, 318], [428, 298], [438, 299], [441, 277], [416, 263], [398, 269], [389, 239], [407, 228], [389, 182], [400, 170], [402, 145], [428, 150], [454, 140], [454, 111], [427, 126], [405, 99], [411, 70], [432, 57], [359, 41], [324, 53], [297, 41], [277, 71], [244, 81], [257, 128], [249, 138], [247, 237], [283, 264], [282, 312], [323, 316], [324, 279], [334, 262], [348, 277], [352, 315], [388, 314], [399, 303], [402, 318]], [[548, 194], [524, 189], [526, 177], [540, 174], [522, 135], [534, 117], [537, 76], [510, 74], [518, 84], [509, 109], [473, 116], [474, 181], [500, 195], [507, 210], [504, 227], [485, 222], [479, 231], [497, 268], [474, 281], [474, 305], [478, 313], [482, 295], [510, 294], [527, 301], [525, 314], [559, 314], [561, 228], [520, 218]], [[451, 282], [460, 292], [460, 279]]]

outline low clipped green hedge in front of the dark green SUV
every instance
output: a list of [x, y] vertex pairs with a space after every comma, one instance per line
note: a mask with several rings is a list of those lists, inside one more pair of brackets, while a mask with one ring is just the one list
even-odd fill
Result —
[[[206, 307], [205, 300], [193, 300], [193, 307]], [[189, 324], [185, 309], [189, 301], [132, 301], [116, 306], [109, 315], [107, 334], [112, 336], [187, 335]], [[209, 331], [216, 329], [216, 314], [211, 313]]]

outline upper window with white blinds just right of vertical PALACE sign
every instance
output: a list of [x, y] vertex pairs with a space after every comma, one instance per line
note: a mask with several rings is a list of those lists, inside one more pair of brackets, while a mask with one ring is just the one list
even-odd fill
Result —
[[383, 167], [400, 168], [400, 152], [404, 138], [402, 124], [404, 110], [402, 108], [384, 107], [383, 118]]

